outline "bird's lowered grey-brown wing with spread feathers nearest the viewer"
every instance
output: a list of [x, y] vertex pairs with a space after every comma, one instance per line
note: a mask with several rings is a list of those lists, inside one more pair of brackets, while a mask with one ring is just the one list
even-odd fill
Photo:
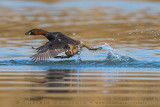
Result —
[[33, 60], [45, 60], [51, 57], [56, 57], [58, 54], [69, 49], [68, 45], [58, 40], [48, 41], [45, 45], [37, 48], [37, 53], [31, 58]]

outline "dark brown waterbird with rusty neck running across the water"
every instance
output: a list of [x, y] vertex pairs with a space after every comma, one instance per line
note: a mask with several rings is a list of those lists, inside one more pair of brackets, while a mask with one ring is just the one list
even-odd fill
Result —
[[[74, 40], [61, 32], [31, 29], [25, 35], [43, 35], [49, 40], [44, 45], [35, 48], [37, 53], [31, 56], [34, 61], [47, 60], [49, 58], [70, 58], [77, 54], [83, 47], [88, 50], [101, 50], [101, 48], [88, 47], [83, 42]], [[65, 52], [66, 56], [58, 56], [62, 52]]]

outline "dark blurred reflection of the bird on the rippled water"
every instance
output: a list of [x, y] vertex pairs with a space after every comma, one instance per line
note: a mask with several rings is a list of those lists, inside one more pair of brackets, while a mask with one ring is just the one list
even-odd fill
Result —
[[[78, 90], [68, 89], [67, 87], [77, 87], [79, 85], [73, 84], [74, 81], [78, 81], [78, 79], [69, 79], [68, 77], [77, 77], [77, 75], [72, 75], [71, 73], [77, 73], [76, 70], [70, 69], [49, 69], [43, 73], [43, 78], [36, 79], [34, 81], [36, 84], [32, 85], [33, 87], [42, 87], [46, 88], [45, 90], [40, 91], [40, 93], [52, 94], [53, 96], [44, 97], [39, 94], [38, 96], [34, 96], [30, 98], [30, 100], [41, 100], [41, 99], [53, 99], [53, 100], [69, 100], [71, 98], [67, 97], [57, 97], [55, 94], [61, 93], [76, 93]], [[32, 90], [32, 93], [37, 93], [37, 90]], [[43, 94], [44, 95], [44, 94]]]

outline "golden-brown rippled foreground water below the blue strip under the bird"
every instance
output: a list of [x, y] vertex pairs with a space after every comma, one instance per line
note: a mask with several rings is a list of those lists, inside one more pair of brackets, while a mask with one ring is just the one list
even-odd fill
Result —
[[0, 71], [2, 105], [159, 105], [157, 69], [12, 69]]

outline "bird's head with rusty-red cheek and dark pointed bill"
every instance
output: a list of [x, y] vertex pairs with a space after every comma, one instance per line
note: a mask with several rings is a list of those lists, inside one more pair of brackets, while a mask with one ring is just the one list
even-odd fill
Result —
[[25, 35], [45, 35], [46, 31], [42, 29], [31, 29]]

